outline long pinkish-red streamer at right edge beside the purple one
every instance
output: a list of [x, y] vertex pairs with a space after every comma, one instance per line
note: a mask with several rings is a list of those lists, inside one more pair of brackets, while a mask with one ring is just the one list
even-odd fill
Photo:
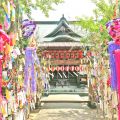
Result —
[[117, 89], [118, 89], [118, 120], [120, 120], [120, 50], [115, 50], [115, 62], [117, 73]]

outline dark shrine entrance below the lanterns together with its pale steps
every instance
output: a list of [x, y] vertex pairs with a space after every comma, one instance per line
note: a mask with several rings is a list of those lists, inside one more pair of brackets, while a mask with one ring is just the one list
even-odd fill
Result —
[[[63, 66], [62, 66], [63, 67]], [[72, 66], [73, 67], [73, 66]], [[87, 75], [77, 71], [50, 71], [50, 93], [81, 93], [87, 88]]]

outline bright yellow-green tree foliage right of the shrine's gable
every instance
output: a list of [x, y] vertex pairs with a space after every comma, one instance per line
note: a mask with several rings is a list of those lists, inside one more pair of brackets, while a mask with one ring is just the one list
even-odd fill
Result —
[[[89, 31], [89, 40], [92, 42], [93, 40], [90, 39], [91, 35], [95, 36], [94, 43], [103, 42], [105, 43], [106, 40], [110, 40], [108, 32], [106, 30], [106, 23], [113, 18], [114, 15], [114, 8], [115, 2], [112, 0], [92, 0], [95, 3], [96, 9], [94, 9], [93, 17], [84, 17], [78, 18], [78, 24], [83, 28]], [[99, 37], [98, 37], [99, 36]], [[97, 38], [98, 37], [98, 38]]]

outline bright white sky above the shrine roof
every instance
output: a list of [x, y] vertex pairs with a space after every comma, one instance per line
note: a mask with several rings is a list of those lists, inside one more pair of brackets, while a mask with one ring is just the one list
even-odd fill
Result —
[[33, 18], [37, 21], [59, 20], [64, 14], [67, 20], [75, 20], [76, 16], [93, 16], [95, 5], [91, 0], [64, 0], [65, 2], [54, 7], [54, 11], [49, 12], [49, 18], [41, 11], [33, 10]]

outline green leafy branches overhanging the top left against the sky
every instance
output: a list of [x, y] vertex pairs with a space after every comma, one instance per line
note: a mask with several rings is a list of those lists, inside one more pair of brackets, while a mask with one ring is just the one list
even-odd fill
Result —
[[[4, 21], [4, 8], [2, 7], [2, 2], [6, 2], [9, 0], [0, 0], [0, 22]], [[19, 17], [21, 14], [26, 14], [28, 17], [31, 17], [32, 9], [41, 10], [46, 16], [48, 16], [48, 12], [53, 10], [53, 5], [58, 5], [62, 3], [63, 0], [13, 0], [16, 6], [16, 16]]]

